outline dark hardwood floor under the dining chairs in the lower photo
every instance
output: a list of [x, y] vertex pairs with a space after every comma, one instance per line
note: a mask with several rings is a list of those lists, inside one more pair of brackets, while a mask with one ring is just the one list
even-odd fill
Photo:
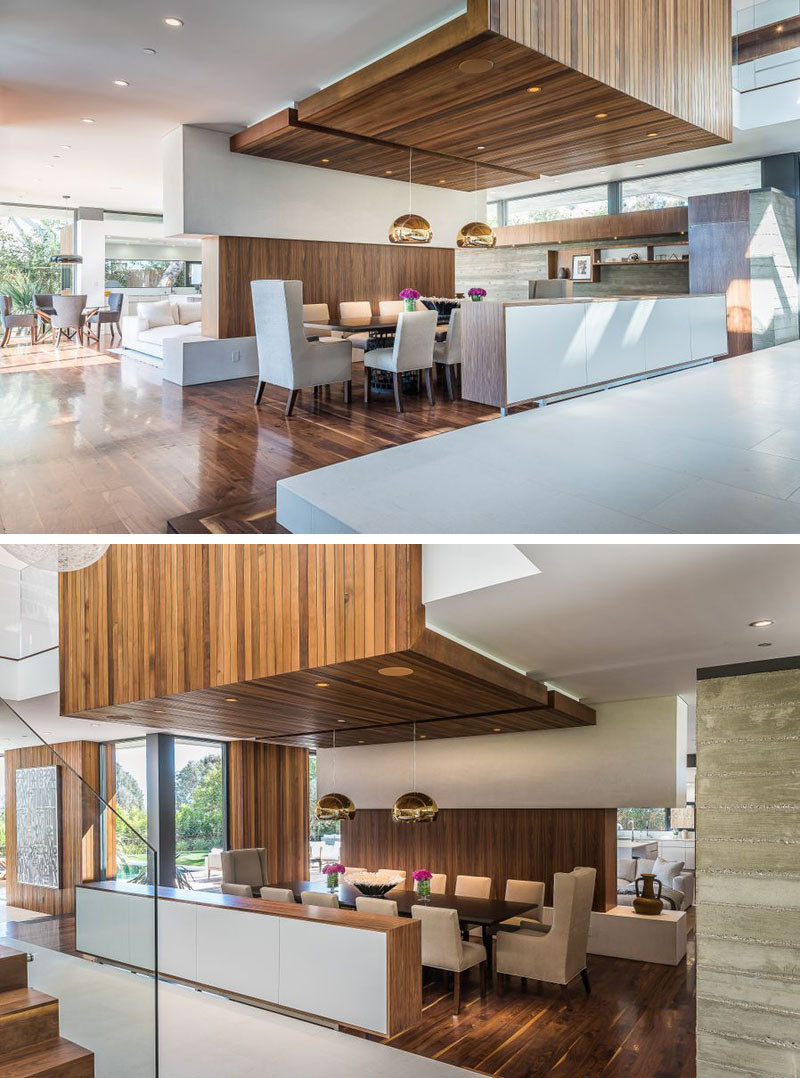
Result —
[[498, 1078], [694, 1078], [693, 941], [679, 966], [590, 955], [589, 969], [592, 994], [574, 982], [571, 1010], [555, 985], [516, 978], [481, 999], [473, 971], [455, 1017], [445, 983], [431, 980], [423, 1022], [381, 1042]]

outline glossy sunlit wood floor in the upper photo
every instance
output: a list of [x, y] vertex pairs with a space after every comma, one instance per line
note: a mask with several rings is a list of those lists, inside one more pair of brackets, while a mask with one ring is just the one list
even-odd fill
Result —
[[[108, 337], [105, 341], [108, 344]], [[497, 416], [439, 390], [403, 415], [286, 391], [252, 403], [254, 378], [183, 388], [147, 358], [97, 346], [12, 344], [0, 351], [0, 531], [274, 531], [275, 484], [312, 468]]]

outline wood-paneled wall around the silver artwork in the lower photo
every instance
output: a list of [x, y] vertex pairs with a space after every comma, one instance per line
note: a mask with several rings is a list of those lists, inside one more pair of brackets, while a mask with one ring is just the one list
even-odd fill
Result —
[[[100, 879], [102, 806], [93, 791], [100, 788], [100, 754], [107, 749], [94, 742], [67, 742], [54, 745], [53, 749], [55, 751], [46, 745], [35, 745], [30, 748], [9, 749], [4, 754], [5, 899], [9, 906], [58, 915], [74, 912], [74, 888], [78, 884]], [[60, 890], [20, 884], [16, 877], [16, 771], [19, 768], [47, 768], [53, 764], [59, 768], [61, 778]], [[111, 791], [107, 789], [105, 792], [108, 794]], [[113, 848], [115, 829], [108, 819], [111, 815], [106, 814], [106, 827], [107, 840], [111, 839], [110, 848]]]

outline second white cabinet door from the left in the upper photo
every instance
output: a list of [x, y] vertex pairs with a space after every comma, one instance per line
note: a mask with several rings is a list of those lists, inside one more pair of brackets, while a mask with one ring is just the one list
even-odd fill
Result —
[[587, 383], [613, 382], [645, 370], [649, 304], [609, 300], [587, 304]]

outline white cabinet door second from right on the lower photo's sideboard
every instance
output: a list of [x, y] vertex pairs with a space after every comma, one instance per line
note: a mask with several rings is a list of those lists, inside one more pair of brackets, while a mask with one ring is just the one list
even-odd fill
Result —
[[280, 924], [280, 917], [198, 906], [199, 983], [277, 1003]]

